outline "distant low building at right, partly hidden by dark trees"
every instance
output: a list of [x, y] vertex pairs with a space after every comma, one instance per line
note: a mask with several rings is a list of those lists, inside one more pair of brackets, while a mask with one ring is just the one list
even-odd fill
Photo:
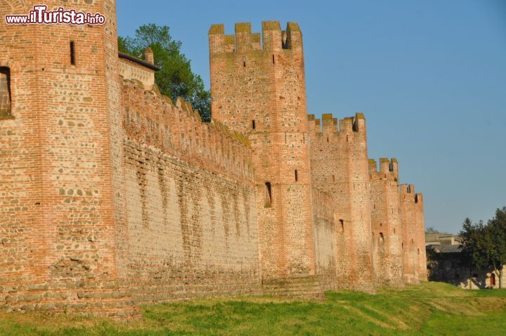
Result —
[[[462, 255], [462, 238], [450, 233], [425, 233], [429, 281], [452, 283], [466, 289], [498, 288], [499, 274], [493, 269], [475, 269]], [[506, 267], [502, 270], [506, 274]], [[502, 288], [506, 281], [502, 279]]]

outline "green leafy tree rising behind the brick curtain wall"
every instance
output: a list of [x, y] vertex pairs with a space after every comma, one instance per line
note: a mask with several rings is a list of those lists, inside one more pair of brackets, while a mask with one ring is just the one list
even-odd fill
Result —
[[118, 37], [119, 51], [141, 59], [149, 46], [155, 56], [155, 65], [162, 68], [155, 73], [160, 93], [173, 101], [178, 96], [189, 101], [200, 112], [202, 120], [209, 122], [211, 95], [205, 89], [202, 78], [192, 72], [190, 60], [181, 53], [181, 45], [181, 41], [172, 39], [169, 27], [154, 23], [138, 27], [135, 37]]

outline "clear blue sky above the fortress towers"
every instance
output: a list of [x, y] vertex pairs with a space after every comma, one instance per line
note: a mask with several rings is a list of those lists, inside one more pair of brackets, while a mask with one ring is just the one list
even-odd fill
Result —
[[118, 33], [168, 25], [209, 87], [207, 30], [299, 22], [308, 112], [363, 112], [369, 157], [397, 157], [425, 223], [457, 233], [506, 205], [506, 1], [117, 1]]

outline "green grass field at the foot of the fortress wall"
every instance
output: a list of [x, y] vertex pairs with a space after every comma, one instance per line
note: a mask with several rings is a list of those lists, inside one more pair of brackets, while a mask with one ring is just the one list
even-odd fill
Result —
[[86, 316], [0, 314], [0, 335], [504, 335], [506, 290], [422, 283], [323, 301], [233, 297], [143, 306], [130, 323]]

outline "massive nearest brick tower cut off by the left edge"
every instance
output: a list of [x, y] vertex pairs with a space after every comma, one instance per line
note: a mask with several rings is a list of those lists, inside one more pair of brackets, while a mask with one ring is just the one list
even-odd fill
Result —
[[[126, 298], [100, 302], [119, 288], [125, 246], [116, 4], [43, 3], [49, 11], [101, 13], [106, 22], [2, 22], [11, 106], [0, 117], [0, 288], [13, 309], [37, 297], [56, 308], [65, 299], [68, 311], [116, 313]], [[27, 14], [35, 4], [1, 0], [0, 16]], [[88, 303], [73, 306], [73, 289], [88, 291]]]

